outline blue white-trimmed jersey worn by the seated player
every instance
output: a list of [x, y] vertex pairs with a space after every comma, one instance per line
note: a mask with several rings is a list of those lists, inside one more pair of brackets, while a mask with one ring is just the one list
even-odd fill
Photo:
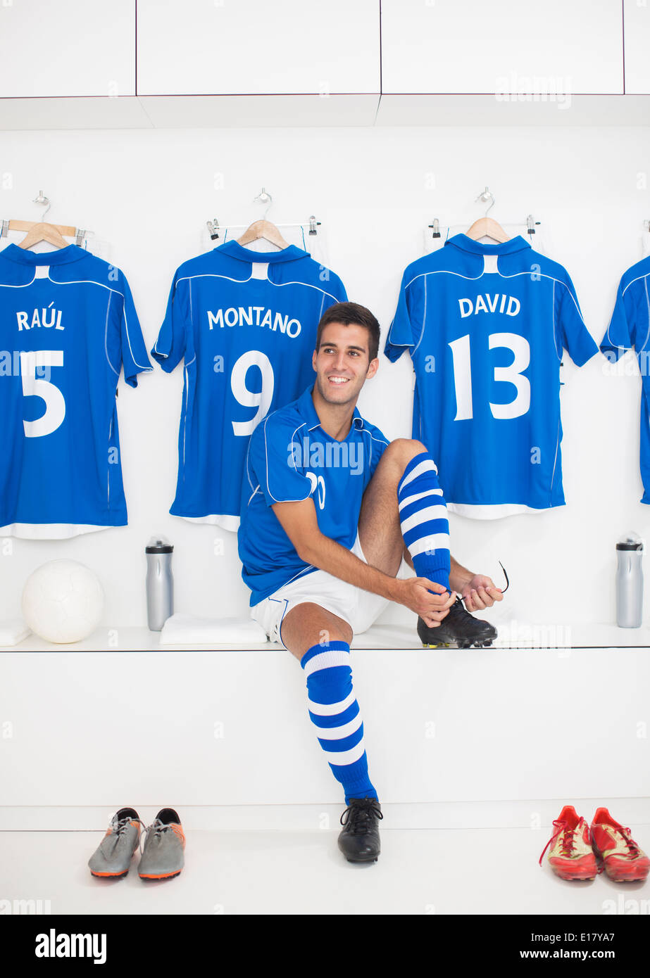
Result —
[[273, 504], [311, 496], [320, 532], [351, 550], [363, 492], [389, 443], [356, 408], [348, 437], [330, 437], [320, 427], [311, 390], [265, 418], [249, 444], [238, 544], [252, 606], [317, 569], [298, 556]]

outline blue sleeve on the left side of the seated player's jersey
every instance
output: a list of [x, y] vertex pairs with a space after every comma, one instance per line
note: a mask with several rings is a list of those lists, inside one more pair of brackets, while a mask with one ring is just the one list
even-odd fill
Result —
[[299, 503], [313, 492], [311, 480], [302, 474], [302, 445], [293, 435], [288, 424], [268, 415], [251, 436], [249, 467], [267, 506]]

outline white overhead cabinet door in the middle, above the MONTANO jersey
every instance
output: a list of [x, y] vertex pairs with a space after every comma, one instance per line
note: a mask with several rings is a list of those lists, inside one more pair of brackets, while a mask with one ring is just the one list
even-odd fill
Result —
[[138, 0], [138, 95], [378, 93], [378, 0]]

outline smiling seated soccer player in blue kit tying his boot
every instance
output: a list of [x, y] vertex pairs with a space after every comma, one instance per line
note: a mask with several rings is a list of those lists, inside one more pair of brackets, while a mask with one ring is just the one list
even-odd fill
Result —
[[[449, 555], [426, 447], [389, 442], [356, 409], [379, 367], [379, 333], [373, 314], [354, 302], [323, 314], [313, 386], [267, 415], [251, 438], [238, 538], [252, 616], [304, 670], [309, 716], [345, 792], [339, 848], [349, 862], [377, 860], [383, 818], [352, 691], [352, 635], [396, 601], [418, 616], [425, 645], [489, 645], [495, 629], [468, 612], [502, 598], [488, 577]], [[415, 576], [403, 576], [408, 565]]]

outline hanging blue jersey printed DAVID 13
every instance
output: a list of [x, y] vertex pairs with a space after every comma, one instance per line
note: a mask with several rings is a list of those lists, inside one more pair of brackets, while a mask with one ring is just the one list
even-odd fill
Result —
[[409, 350], [413, 437], [451, 511], [490, 519], [564, 504], [560, 365], [598, 347], [566, 270], [523, 238], [466, 235], [409, 265], [385, 353]]

